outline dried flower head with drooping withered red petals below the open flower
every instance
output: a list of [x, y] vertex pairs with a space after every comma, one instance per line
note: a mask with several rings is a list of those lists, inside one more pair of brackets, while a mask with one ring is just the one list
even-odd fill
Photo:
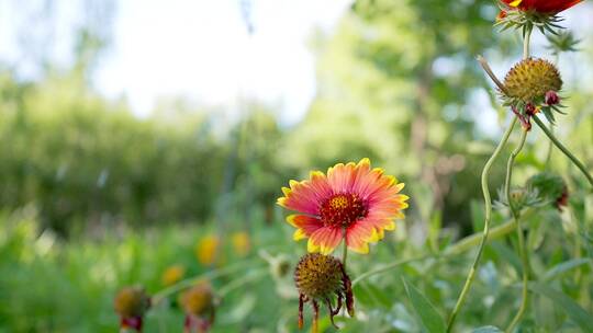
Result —
[[[327, 305], [329, 319], [334, 325], [334, 315], [342, 309], [343, 301], [346, 302], [348, 314], [355, 315], [350, 278], [339, 260], [320, 253], [304, 255], [294, 269], [294, 283], [299, 290], [299, 329], [303, 328], [304, 322], [303, 305], [309, 301], [314, 312], [313, 331], [317, 328], [318, 302]], [[335, 308], [334, 298], [336, 298]]]

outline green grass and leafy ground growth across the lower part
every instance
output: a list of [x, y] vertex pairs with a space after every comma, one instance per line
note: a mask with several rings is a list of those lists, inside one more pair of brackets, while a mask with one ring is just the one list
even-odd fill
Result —
[[[545, 283], [547, 289], [534, 289], [546, 292], [533, 296], [522, 332], [585, 332], [583, 328], [591, 324], [583, 315], [591, 313], [593, 307], [588, 252], [592, 248], [588, 231], [593, 222], [591, 202], [591, 195], [574, 202], [572, 216], [561, 217], [553, 209], [541, 209], [530, 217], [527, 225], [534, 228], [528, 231], [534, 252], [533, 276]], [[495, 214], [495, 226], [503, 220], [502, 214]], [[69, 241], [48, 231], [40, 234], [35, 215], [27, 210], [1, 215], [0, 226], [1, 332], [114, 332], [119, 323], [112, 306], [116, 290], [141, 284], [155, 295], [164, 289], [163, 272], [175, 264], [186, 267], [188, 278], [231, 269], [230, 274], [210, 280], [221, 298], [213, 332], [296, 332], [292, 268], [283, 276], [270, 274], [272, 269], [264, 259], [282, 255], [293, 267], [304, 254], [304, 244], [291, 241], [292, 228], [280, 219], [272, 225], [251, 226], [251, 250], [245, 255], [235, 252], [230, 232], [224, 232], [220, 263], [212, 267], [198, 262], [195, 244], [202, 237], [216, 232], [214, 222], [146, 230], [114, 228]], [[395, 232], [388, 233], [369, 255], [350, 255], [351, 278], [399, 260], [425, 255], [428, 259], [357, 283], [357, 318], [336, 317], [336, 322], [344, 326], [342, 332], [421, 332], [426, 318], [438, 313], [446, 320], [450, 313], [473, 252], [436, 259], [449, 243], [448, 231], [432, 223], [430, 228], [438, 230], [427, 234], [440, 237], [423, 241], [407, 233], [410, 227], [418, 226], [410, 221], [409, 228], [404, 226], [401, 223]], [[516, 311], [521, 266], [515, 265], [519, 261], [513, 250], [514, 236], [513, 232], [486, 248], [458, 330], [504, 328]], [[260, 255], [261, 251], [267, 255]], [[581, 260], [574, 261], [575, 256]], [[409, 299], [403, 279], [409, 284], [409, 292], [410, 285], [414, 286], [413, 299]], [[176, 300], [174, 292], [153, 307], [145, 321], [146, 332], [181, 330], [183, 314]], [[425, 303], [432, 305], [427, 313], [423, 313]], [[579, 309], [579, 315], [567, 313], [560, 305]], [[307, 307], [305, 324], [311, 322], [312, 311]], [[323, 307], [320, 328], [322, 332], [335, 332]]]

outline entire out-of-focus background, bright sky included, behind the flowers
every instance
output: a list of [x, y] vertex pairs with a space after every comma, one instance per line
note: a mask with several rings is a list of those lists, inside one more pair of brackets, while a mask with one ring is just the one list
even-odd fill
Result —
[[[480, 172], [510, 113], [474, 57], [501, 77], [521, 57], [496, 14], [491, 0], [0, 0], [0, 331], [113, 332], [118, 288], [231, 267], [212, 279], [214, 331], [293, 332], [277, 264], [305, 246], [276, 198], [337, 162], [369, 157], [412, 197], [384, 245], [351, 256], [355, 275], [480, 229]], [[564, 16], [581, 51], [555, 57], [537, 34], [534, 53], [558, 61], [570, 99], [557, 134], [592, 165], [593, 4]], [[546, 168], [544, 138], [530, 135], [517, 182]], [[560, 153], [550, 165], [580, 191]], [[443, 309], [467, 265], [425, 286]], [[392, 278], [355, 290], [347, 329], [419, 330]], [[148, 332], [180, 331], [175, 300]], [[465, 321], [504, 322], [504, 305]]]

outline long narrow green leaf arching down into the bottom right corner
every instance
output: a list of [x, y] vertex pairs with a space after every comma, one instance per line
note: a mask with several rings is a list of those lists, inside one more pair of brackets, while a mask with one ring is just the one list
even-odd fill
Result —
[[593, 332], [593, 315], [588, 313], [579, 303], [572, 298], [566, 296], [561, 291], [550, 288], [541, 284], [529, 284], [532, 291], [542, 295], [549, 298], [556, 303], [557, 307], [564, 310], [564, 312], [572, 319], [583, 332]]

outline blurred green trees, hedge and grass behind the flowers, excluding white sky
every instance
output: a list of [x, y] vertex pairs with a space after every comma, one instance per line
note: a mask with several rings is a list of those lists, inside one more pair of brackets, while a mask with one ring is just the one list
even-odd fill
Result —
[[[243, 13], [239, 24], [253, 28], [246, 33], [257, 36], [258, 1], [227, 2]], [[493, 27], [494, 1], [346, 3], [332, 28], [306, 33], [316, 85], [296, 122], [283, 120], [278, 103], [249, 94], [220, 105], [172, 94], [138, 115], [126, 99], [107, 96], [93, 83], [118, 33], [109, 22], [121, 3], [78, 4], [69, 11], [83, 20], [67, 31], [74, 43], [65, 65], [46, 54], [47, 44], [65, 37], [56, 33], [54, 39], [40, 39], [38, 32], [61, 20], [51, 13], [68, 2], [0, 0], [2, 26], [14, 27], [13, 37], [22, 42], [11, 47], [27, 56], [0, 53], [1, 332], [113, 332], [115, 290], [142, 284], [155, 294], [172, 283], [163, 275], [174, 265], [184, 277], [238, 267], [212, 279], [225, 291], [215, 332], [295, 331], [291, 273], [280, 274], [273, 263], [295, 264], [305, 246], [292, 243], [291, 227], [275, 203], [289, 180], [337, 162], [369, 157], [406, 183], [404, 192], [412, 197], [395, 232], [370, 255], [351, 256], [354, 276], [438, 251], [481, 229], [480, 172], [510, 113], [497, 106], [474, 57], [486, 56], [501, 77], [521, 57], [518, 34]], [[209, 4], [200, 1], [201, 10]], [[591, 15], [586, 1], [567, 14], [566, 25], [582, 41], [581, 53], [551, 56], [540, 35], [534, 48], [559, 61], [570, 100], [557, 134], [590, 168], [593, 25], [584, 19]], [[27, 74], [31, 68], [35, 74]], [[158, 81], [149, 69], [145, 76]], [[516, 182], [551, 168], [574, 193], [568, 213], [549, 209], [536, 218], [552, 234], [545, 244], [534, 241], [541, 255], [536, 269], [546, 272], [574, 256], [590, 256], [593, 197], [558, 151], [546, 165], [548, 142], [541, 133], [534, 130], [528, 146], [518, 159]], [[504, 163], [501, 159], [494, 166], [494, 197]], [[495, 219], [502, 222], [504, 214]], [[577, 245], [562, 242], [566, 238]], [[486, 254], [471, 297], [474, 306], [461, 319], [466, 329], [504, 325], [514, 313], [512, 242], [500, 241]], [[360, 285], [355, 288], [360, 319], [338, 321], [347, 332], [421, 331], [401, 276], [422, 286], [445, 314], [469, 260], [409, 266]], [[589, 313], [590, 268], [559, 282]], [[147, 332], [181, 330], [175, 300], [152, 310]], [[530, 314], [522, 332], [582, 330], [553, 302], [540, 303], [542, 310]], [[333, 332], [324, 311], [322, 318], [322, 326]]]

